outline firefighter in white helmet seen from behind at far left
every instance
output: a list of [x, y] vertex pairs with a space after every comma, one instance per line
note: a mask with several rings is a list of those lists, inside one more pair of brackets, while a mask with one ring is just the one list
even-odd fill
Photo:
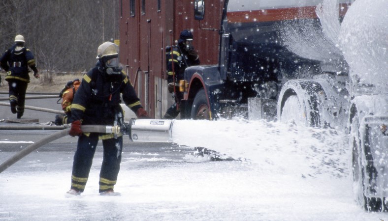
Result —
[[18, 119], [23, 116], [27, 86], [30, 83], [28, 67], [32, 69], [33, 76], [39, 79], [33, 54], [24, 46], [24, 43], [23, 35], [16, 35], [15, 44], [0, 58], [0, 66], [6, 71], [5, 81], [8, 82], [9, 87], [11, 112], [17, 113]]

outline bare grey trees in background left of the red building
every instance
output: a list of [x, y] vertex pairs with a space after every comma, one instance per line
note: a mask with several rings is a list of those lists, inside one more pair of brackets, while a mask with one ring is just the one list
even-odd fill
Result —
[[97, 47], [118, 37], [116, 0], [1, 0], [0, 51], [26, 38], [38, 69], [85, 71]]

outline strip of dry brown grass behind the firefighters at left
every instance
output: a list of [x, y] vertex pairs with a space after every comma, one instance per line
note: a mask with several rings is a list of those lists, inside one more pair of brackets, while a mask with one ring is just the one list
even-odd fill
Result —
[[[30, 73], [30, 83], [27, 92], [60, 92], [65, 83], [76, 78], [82, 80], [84, 73], [42, 73], [39, 72], [40, 79], [35, 79]], [[4, 80], [5, 72], [0, 72], [1, 81], [0, 92], [8, 92], [8, 82]]]

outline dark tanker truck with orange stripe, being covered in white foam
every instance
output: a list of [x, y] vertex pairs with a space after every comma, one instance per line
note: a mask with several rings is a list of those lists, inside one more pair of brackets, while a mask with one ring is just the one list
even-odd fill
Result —
[[[380, 1], [225, 0], [219, 63], [185, 70], [181, 118], [244, 116], [346, 130], [356, 201], [367, 210], [388, 210], [388, 13]], [[199, 22], [211, 10], [205, 5], [194, 1]], [[370, 11], [356, 10], [348, 19], [356, 5]], [[380, 39], [373, 28], [352, 33], [379, 7]], [[341, 28], [346, 21], [348, 32]], [[374, 51], [369, 35], [380, 43]], [[349, 46], [357, 36], [363, 43]], [[369, 58], [357, 60], [355, 51]], [[383, 64], [364, 68], [376, 59]], [[360, 77], [365, 72], [369, 77]]]

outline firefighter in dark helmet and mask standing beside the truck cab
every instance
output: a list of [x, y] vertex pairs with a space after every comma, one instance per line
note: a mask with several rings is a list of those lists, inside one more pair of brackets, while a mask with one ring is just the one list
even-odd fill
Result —
[[179, 86], [178, 83], [180, 80], [183, 80], [184, 72], [187, 67], [199, 65], [200, 62], [199, 56], [193, 47], [193, 34], [188, 29], [181, 32], [178, 46], [169, 47], [167, 50], [169, 50], [169, 52], [166, 53], [168, 91], [172, 93], [175, 102], [166, 111], [163, 119], [174, 119], [180, 112], [179, 102], [183, 99], [183, 92], [179, 92], [177, 87]]

